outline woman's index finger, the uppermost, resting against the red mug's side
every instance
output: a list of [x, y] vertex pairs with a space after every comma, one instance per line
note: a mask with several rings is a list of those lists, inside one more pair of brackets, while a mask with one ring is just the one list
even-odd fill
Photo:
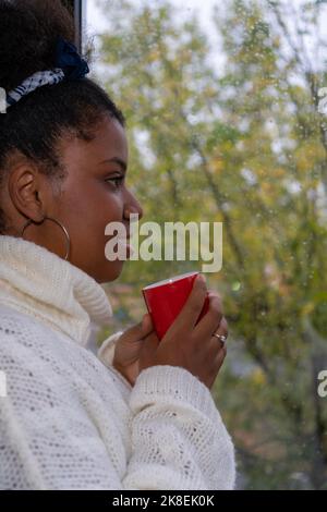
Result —
[[186, 333], [193, 330], [202, 312], [206, 295], [207, 287], [205, 278], [199, 273], [194, 280], [193, 289], [186, 303], [171, 326], [171, 332], [183, 329], [183, 331]]

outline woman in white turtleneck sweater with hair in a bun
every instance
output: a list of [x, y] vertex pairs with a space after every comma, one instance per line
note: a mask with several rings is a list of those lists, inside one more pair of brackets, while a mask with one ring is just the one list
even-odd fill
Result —
[[105, 227], [143, 211], [123, 114], [73, 40], [60, 1], [0, 0], [0, 488], [231, 489], [209, 391], [227, 321], [210, 292], [195, 326], [204, 279], [160, 343], [145, 315], [98, 357], [86, 349], [123, 266], [105, 257]]

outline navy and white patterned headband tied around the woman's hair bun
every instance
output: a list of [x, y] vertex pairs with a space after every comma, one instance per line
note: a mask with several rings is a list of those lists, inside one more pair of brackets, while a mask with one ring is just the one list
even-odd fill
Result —
[[20, 101], [23, 96], [32, 93], [44, 85], [59, 84], [63, 80], [81, 80], [89, 69], [87, 62], [82, 59], [76, 47], [63, 39], [58, 38], [56, 50], [56, 68], [48, 71], [38, 71], [7, 95], [7, 108]]

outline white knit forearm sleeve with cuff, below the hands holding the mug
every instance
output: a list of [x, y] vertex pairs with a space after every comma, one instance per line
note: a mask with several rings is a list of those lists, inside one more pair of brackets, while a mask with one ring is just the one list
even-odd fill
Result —
[[130, 406], [134, 452], [128, 489], [233, 489], [232, 441], [213, 397], [182, 367], [143, 370]]

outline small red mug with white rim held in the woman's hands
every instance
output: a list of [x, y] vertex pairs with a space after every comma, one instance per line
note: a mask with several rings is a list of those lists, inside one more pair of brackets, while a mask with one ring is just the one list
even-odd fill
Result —
[[[193, 288], [198, 271], [182, 273], [158, 281], [142, 289], [147, 310], [153, 319], [155, 331], [161, 340], [183, 308]], [[209, 297], [206, 296], [196, 324], [207, 313]]]

